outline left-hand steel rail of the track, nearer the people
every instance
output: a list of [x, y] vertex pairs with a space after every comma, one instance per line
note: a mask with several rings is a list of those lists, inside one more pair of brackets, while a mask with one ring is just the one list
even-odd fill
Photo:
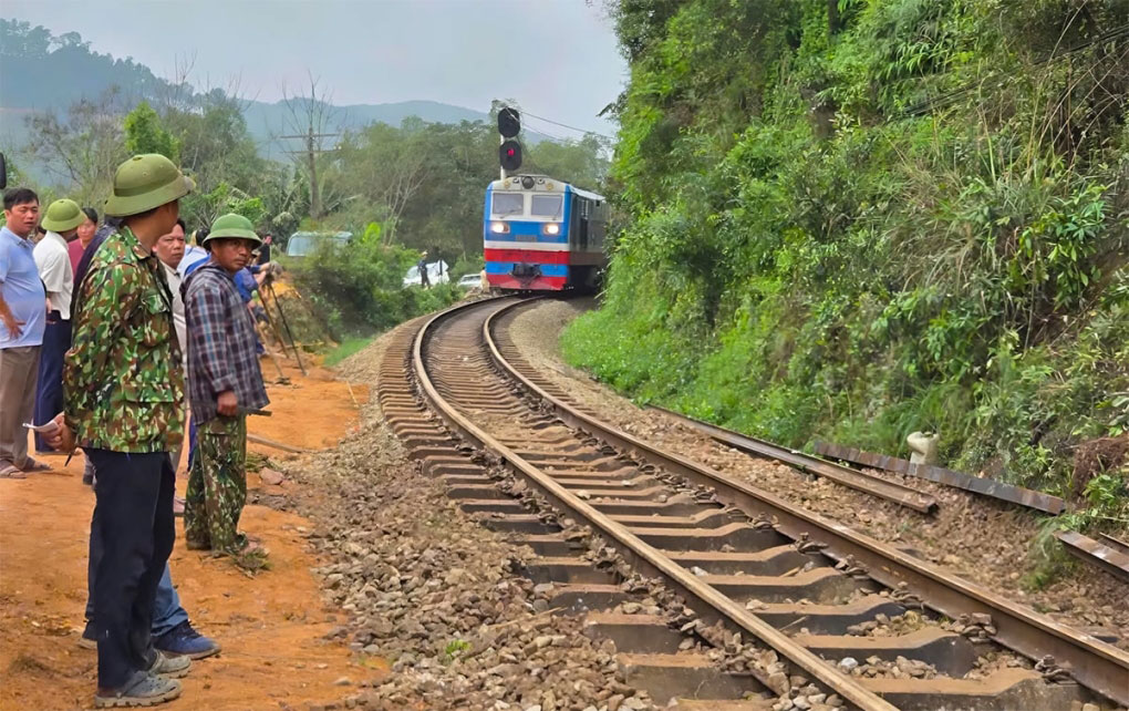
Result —
[[[430, 331], [438, 321], [478, 304], [481, 304], [481, 302], [456, 306], [434, 315], [420, 329], [412, 345], [412, 366], [423, 397], [449, 427], [467, 440], [476, 442], [479, 445], [500, 457], [506, 465], [524, 476], [533, 487], [561, 511], [568, 512], [577, 520], [587, 522], [610, 545], [620, 550], [633, 567], [663, 578], [689, 600], [697, 601], [699, 609], [704, 608], [706, 610], [704, 614], [700, 615], [701, 617], [706, 619], [728, 619], [732, 625], [736, 625], [758, 638], [787, 658], [796, 668], [823, 683], [858, 709], [864, 711], [896, 711], [896, 706], [867, 690], [857, 679], [837, 671], [819, 656], [797, 644], [760, 617], [752, 615], [742, 605], [726, 597], [714, 587], [702, 582], [697, 575], [662, 554], [657, 548], [642, 541], [638, 536], [628, 530], [627, 527], [613, 521], [607, 514], [602, 513], [592, 504], [579, 498], [576, 494], [557, 483], [551, 476], [544, 474], [511, 449], [481, 430], [450, 405], [439, 393], [431, 381], [423, 359], [423, 344], [430, 337]], [[483, 323], [483, 337], [488, 339], [488, 345], [495, 357], [498, 357], [496, 346], [488, 337], [489, 328], [490, 320], [488, 319]], [[714, 610], [714, 613], [711, 614], [709, 610]], [[762, 677], [763, 675], [760, 675], [758, 678], [761, 683], [765, 683], [767, 678]]]

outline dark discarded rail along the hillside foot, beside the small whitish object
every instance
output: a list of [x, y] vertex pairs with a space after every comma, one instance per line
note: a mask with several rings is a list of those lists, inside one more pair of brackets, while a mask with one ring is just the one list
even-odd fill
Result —
[[937, 467], [934, 465], [917, 465], [896, 457], [876, 454], [874, 452], [867, 452], [850, 446], [842, 446], [840, 444], [831, 444], [829, 442], [816, 442], [815, 451], [823, 457], [841, 459], [843, 461], [850, 461], [864, 467], [874, 467], [876, 469], [885, 469], [886, 471], [908, 474], [921, 479], [936, 482], [937, 484], [955, 486], [983, 496], [990, 496], [1008, 503], [1027, 506], [1029, 509], [1043, 511], [1045, 513], [1050, 513], [1051, 515], [1058, 515], [1066, 510], [1066, 502], [1058, 496], [1051, 496], [1050, 494], [1044, 494], [1042, 492], [1023, 488], [1022, 486], [1004, 484], [1003, 482], [997, 482], [987, 477], [974, 477], [961, 471], [946, 469], [944, 467]]

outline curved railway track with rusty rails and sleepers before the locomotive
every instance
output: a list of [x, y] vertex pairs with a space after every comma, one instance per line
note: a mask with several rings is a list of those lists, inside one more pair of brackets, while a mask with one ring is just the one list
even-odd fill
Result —
[[1129, 704], [1126, 652], [581, 411], [506, 336], [526, 303], [404, 329], [379, 402], [449, 495], [533, 548], [527, 574], [552, 607], [614, 640], [657, 702]]

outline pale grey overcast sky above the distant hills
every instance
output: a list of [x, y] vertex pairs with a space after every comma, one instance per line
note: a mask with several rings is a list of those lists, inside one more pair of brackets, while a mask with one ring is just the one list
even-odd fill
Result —
[[[585, 0], [0, 0], [0, 16], [78, 32], [94, 51], [274, 102], [307, 70], [335, 104], [432, 99], [530, 113], [603, 133], [627, 79], [611, 21]], [[576, 137], [533, 119], [530, 128]], [[544, 130], [542, 130], [544, 129]]]

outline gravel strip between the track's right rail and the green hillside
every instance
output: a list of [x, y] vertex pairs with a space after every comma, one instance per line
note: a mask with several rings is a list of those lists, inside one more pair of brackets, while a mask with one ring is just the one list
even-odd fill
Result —
[[[682, 453], [820, 515], [935, 563], [989, 590], [1086, 631], [1112, 632], [1129, 649], [1129, 586], [1075, 564], [1041, 590], [1024, 579], [1038, 561], [1030, 555], [1045, 518], [914, 477], [872, 471], [937, 498], [938, 511], [922, 515], [791, 467], [751, 457], [720, 444], [663, 413], [640, 409], [585, 372], [562, 362], [560, 331], [590, 301], [545, 301], [513, 320], [510, 337], [530, 364], [569, 392], [595, 416], [659, 446]], [[850, 444], [844, 442], [843, 444]]]

